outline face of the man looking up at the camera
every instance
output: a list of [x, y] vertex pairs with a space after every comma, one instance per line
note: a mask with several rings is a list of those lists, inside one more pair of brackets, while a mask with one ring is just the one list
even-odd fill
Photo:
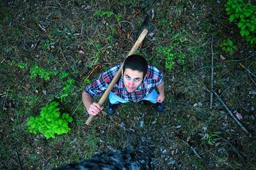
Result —
[[143, 81], [143, 72], [126, 68], [122, 76], [124, 77], [124, 86], [127, 92], [132, 93], [141, 85]]

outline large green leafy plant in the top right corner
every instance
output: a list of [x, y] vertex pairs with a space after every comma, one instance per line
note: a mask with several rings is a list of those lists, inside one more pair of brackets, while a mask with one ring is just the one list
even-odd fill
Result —
[[244, 0], [228, 0], [225, 4], [229, 20], [238, 20], [237, 26], [240, 28], [241, 36], [246, 37], [246, 41], [251, 45], [256, 43], [256, 6], [245, 3]]

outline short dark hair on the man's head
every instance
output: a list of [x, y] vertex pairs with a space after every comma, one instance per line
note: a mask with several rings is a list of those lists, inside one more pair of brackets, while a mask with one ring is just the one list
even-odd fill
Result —
[[124, 60], [124, 65], [123, 65], [123, 74], [125, 69], [132, 69], [134, 71], [140, 71], [143, 73], [143, 78], [147, 74], [148, 70], [148, 63], [145, 58], [143, 58], [141, 55], [129, 55], [125, 60]]

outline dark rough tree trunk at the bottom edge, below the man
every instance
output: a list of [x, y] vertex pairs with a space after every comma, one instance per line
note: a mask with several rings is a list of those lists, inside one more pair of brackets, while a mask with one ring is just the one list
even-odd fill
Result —
[[54, 170], [74, 170], [74, 169], [154, 169], [154, 158], [148, 146], [138, 146], [136, 148], [123, 148], [108, 153], [100, 153], [92, 159], [83, 160], [80, 163], [68, 164]]

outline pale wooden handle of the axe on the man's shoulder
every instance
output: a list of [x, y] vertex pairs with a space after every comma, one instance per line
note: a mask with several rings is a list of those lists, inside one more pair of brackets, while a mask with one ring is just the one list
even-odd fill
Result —
[[[136, 52], [136, 50], [139, 48], [139, 46], [141, 45], [143, 39], [145, 38], [145, 36], [147, 35], [148, 33], [148, 30], [147, 29], [144, 29], [141, 34], [140, 34], [140, 37], [137, 39], [136, 43], [132, 46], [132, 49], [131, 51], [128, 53], [127, 57], [129, 55], [132, 55]], [[124, 64], [124, 63], [123, 63]], [[111, 92], [111, 90], [113, 89], [113, 86], [115, 85], [116, 81], [120, 78], [120, 75], [121, 75], [121, 71], [122, 71], [122, 67], [123, 67], [123, 64], [122, 66], [118, 69], [117, 73], [115, 74], [113, 80], [111, 81], [111, 83], [109, 84], [108, 88], [106, 89], [106, 91], [104, 92], [104, 94], [100, 97], [100, 100], [99, 100], [99, 104], [100, 106], [102, 106], [102, 104], [104, 103], [104, 101], [106, 101], [109, 93]], [[90, 123], [92, 122], [93, 120], [93, 115], [90, 115], [90, 117], [86, 120], [86, 125], [90, 125]]]

